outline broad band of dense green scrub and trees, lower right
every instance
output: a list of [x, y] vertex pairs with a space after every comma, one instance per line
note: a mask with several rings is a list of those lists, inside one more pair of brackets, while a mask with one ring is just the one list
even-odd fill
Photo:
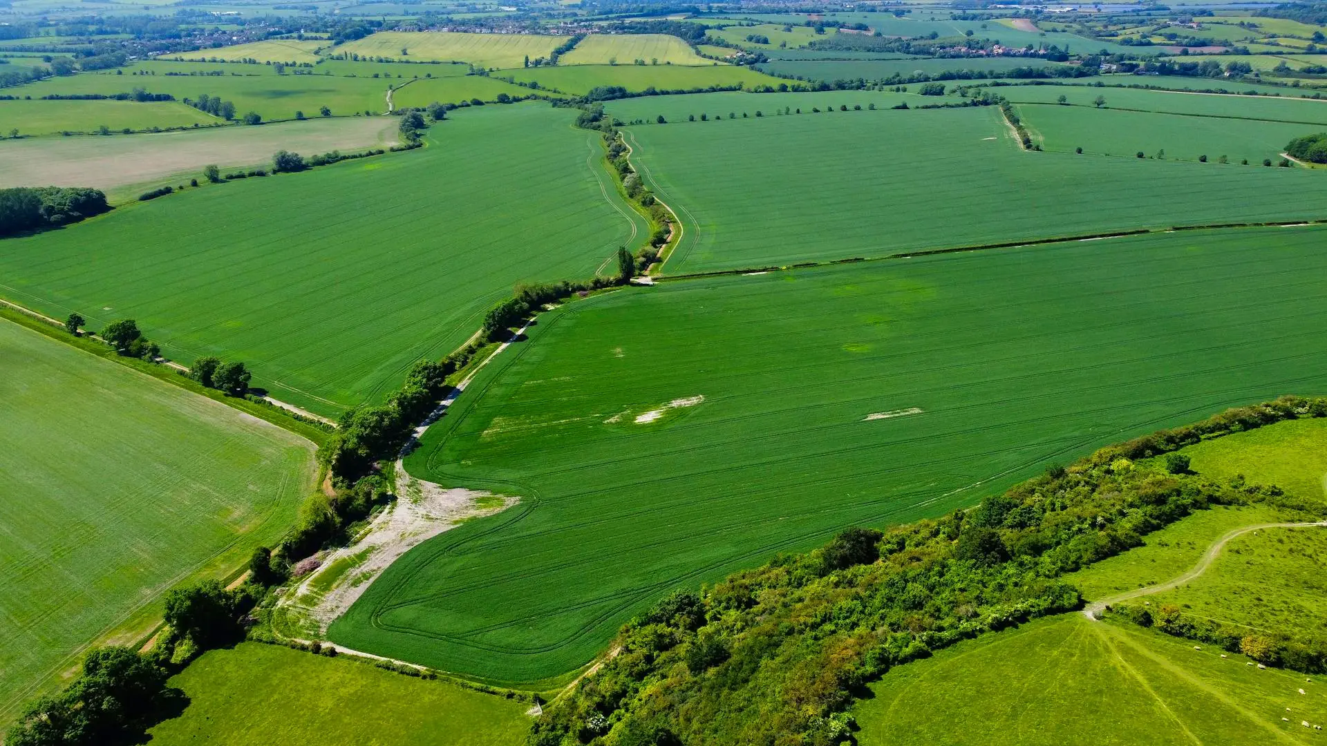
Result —
[[622, 628], [617, 656], [593, 677], [545, 706], [529, 743], [851, 741], [848, 706], [892, 666], [1082, 608], [1066, 573], [1193, 511], [1282, 499], [1178, 462], [1144, 467], [1131, 454], [1318, 413], [1327, 414], [1327, 400], [1231, 410], [1051, 467], [973, 510], [882, 532], [848, 530], [813, 552], [780, 555], [702, 592], [678, 591]]

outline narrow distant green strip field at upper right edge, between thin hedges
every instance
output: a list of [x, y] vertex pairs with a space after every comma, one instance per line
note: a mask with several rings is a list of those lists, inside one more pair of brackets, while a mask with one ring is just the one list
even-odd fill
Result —
[[[1214, 81], [1216, 85], [1230, 85]], [[1015, 104], [1055, 104], [1066, 96], [1070, 104], [1091, 106], [1097, 96], [1109, 109], [1189, 114], [1194, 117], [1230, 117], [1327, 125], [1327, 101], [1270, 96], [1209, 96], [1172, 93], [1137, 88], [1074, 88], [1058, 85], [1020, 85], [1001, 88], [999, 94]]]

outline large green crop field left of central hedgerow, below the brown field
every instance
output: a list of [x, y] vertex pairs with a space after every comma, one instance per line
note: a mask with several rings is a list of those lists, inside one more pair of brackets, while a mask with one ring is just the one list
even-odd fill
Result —
[[598, 135], [571, 119], [543, 102], [470, 108], [423, 150], [7, 239], [0, 295], [90, 328], [135, 319], [173, 360], [243, 360], [256, 386], [336, 414], [459, 346], [514, 284], [591, 277], [644, 240]]

